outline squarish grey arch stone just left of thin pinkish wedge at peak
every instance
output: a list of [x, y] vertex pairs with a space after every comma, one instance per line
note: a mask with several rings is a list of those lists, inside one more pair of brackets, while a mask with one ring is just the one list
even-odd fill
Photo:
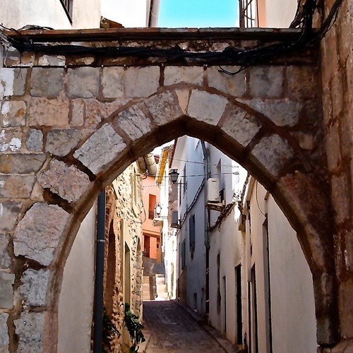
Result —
[[163, 125], [181, 116], [182, 112], [172, 92], [151, 97], [146, 101], [146, 106], [158, 125]]

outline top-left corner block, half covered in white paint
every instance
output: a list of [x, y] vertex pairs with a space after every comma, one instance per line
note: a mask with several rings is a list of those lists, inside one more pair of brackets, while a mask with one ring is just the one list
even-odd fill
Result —
[[27, 72], [27, 68], [1, 68], [0, 97], [24, 95]]

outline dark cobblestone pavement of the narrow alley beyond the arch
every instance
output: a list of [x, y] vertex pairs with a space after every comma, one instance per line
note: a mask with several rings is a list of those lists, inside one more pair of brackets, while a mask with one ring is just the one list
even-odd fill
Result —
[[174, 301], [144, 301], [147, 353], [225, 352], [189, 313]]

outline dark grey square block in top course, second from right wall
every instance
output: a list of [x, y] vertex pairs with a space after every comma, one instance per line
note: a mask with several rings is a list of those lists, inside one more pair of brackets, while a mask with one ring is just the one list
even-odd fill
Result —
[[282, 66], [251, 66], [249, 90], [254, 98], [280, 98], [284, 92]]

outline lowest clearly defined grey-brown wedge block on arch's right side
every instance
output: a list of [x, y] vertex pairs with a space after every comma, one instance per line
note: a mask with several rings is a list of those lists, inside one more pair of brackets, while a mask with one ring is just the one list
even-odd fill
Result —
[[277, 176], [287, 161], [294, 157], [294, 152], [287, 140], [279, 135], [262, 138], [251, 153], [263, 168], [274, 176]]

